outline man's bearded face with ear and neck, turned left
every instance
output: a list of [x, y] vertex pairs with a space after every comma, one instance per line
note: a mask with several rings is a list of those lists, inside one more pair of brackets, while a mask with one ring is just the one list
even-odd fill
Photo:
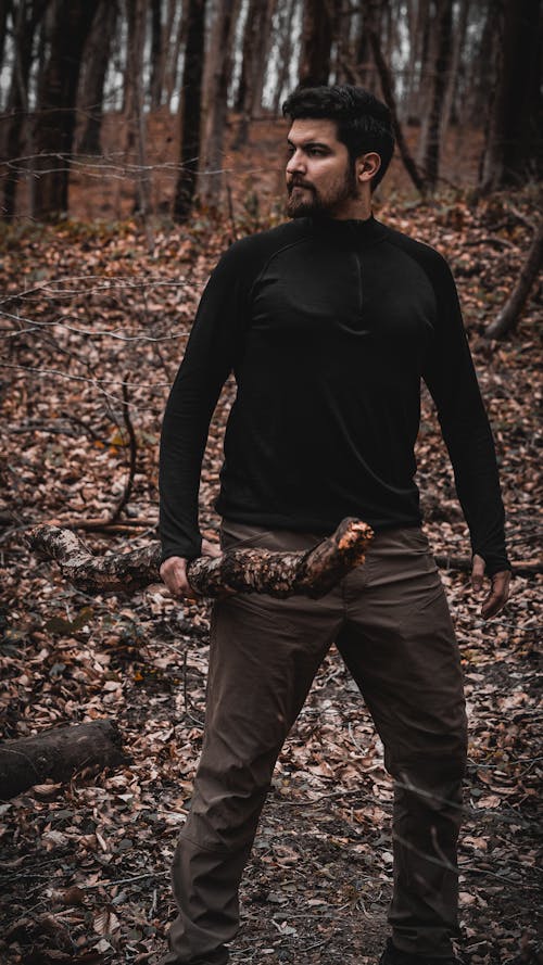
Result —
[[327, 214], [349, 217], [358, 198], [346, 145], [334, 120], [294, 120], [288, 136], [287, 214], [291, 218]]

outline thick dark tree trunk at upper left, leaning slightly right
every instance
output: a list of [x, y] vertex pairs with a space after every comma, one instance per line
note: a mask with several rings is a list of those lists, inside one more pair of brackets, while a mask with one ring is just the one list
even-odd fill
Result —
[[75, 132], [75, 104], [81, 55], [99, 0], [74, 3], [55, 0], [49, 55], [37, 97], [34, 148], [39, 182], [34, 198], [36, 218], [67, 212], [70, 158]]

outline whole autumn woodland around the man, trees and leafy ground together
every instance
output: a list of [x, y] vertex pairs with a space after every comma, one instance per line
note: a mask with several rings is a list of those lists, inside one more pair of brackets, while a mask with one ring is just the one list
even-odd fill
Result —
[[[506, 506], [512, 598], [485, 623], [425, 390], [417, 480], [470, 731], [457, 954], [543, 962], [542, 38], [538, 0], [0, 0], [2, 965], [156, 965], [165, 949], [211, 601], [205, 573], [184, 605], [160, 582], [161, 419], [219, 255], [285, 220], [281, 103], [327, 82], [392, 112], [375, 214], [451, 264]], [[203, 461], [212, 541], [235, 392]], [[79, 569], [51, 548], [61, 531], [85, 544]], [[85, 548], [116, 582], [89, 579]], [[392, 796], [332, 648], [276, 766], [235, 965], [377, 962]]]

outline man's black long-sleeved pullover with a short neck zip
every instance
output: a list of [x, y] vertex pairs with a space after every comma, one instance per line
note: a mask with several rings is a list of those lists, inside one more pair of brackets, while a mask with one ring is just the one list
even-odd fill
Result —
[[331, 532], [421, 521], [420, 379], [435, 402], [472, 551], [507, 569], [492, 433], [456, 288], [433, 249], [369, 218], [301, 218], [236, 242], [203, 293], [161, 443], [162, 559], [200, 554], [209, 424], [233, 371], [217, 510]]

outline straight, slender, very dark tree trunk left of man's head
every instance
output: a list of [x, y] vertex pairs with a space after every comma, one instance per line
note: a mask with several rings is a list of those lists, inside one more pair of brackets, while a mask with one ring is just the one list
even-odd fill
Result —
[[197, 190], [202, 123], [202, 74], [205, 0], [189, 0], [187, 45], [180, 101], [180, 168], [174, 198], [174, 220], [186, 221]]

